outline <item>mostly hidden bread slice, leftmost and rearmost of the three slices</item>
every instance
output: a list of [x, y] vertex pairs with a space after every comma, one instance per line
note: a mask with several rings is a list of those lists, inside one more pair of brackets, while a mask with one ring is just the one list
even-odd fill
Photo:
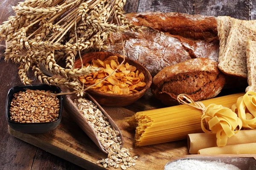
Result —
[[218, 37], [220, 40], [220, 51], [219, 51], [219, 60], [222, 59], [222, 54], [227, 43], [227, 37], [230, 34], [230, 29], [234, 24], [235, 19], [227, 16], [217, 17], [217, 30]]

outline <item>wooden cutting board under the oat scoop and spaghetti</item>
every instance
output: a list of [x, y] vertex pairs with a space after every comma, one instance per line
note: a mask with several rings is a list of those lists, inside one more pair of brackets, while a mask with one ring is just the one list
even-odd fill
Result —
[[[130, 151], [131, 156], [139, 156], [136, 165], [128, 170], [163, 170], [165, 164], [175, 157], [189, 154], [186, 140], [135, 148], [133, 145], [135, 130], [129, 130], [128, 124], [121, 121], [125, 117], [134, 115], [134, 112], [125, 108], [104, 107], [104, 109], [122, 131], [124, 147], [133, 148]], [[104, 169], [102, 165], [96, 164], [96, 161], [107, 158], [107, 154], [99, 150], [66, 112], [63, 113], [60, 125], [49, 133], [26, 134], [10, 127], [9, 133], [87, 170]]]

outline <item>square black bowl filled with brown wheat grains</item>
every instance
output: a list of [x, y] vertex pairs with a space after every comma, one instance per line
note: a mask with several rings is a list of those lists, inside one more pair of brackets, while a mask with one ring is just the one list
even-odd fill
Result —
[[12, 87], [6, 99], [8, 125], [22, 133], [47, 133], [55, 129], [61, 122], [63, 98], [49, 93], [58, 94], [61, 89], [49, 85]]

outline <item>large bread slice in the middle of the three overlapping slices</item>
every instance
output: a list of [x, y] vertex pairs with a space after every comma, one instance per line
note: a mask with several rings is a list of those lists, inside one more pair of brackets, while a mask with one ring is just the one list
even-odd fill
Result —
[[247, 77], [247, 40], [256, 40], [256, 20], [235, 20], [218, 68], [225, 74]]

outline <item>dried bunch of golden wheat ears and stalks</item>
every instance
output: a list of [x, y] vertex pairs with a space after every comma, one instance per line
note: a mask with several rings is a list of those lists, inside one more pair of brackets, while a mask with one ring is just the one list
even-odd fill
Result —
[[[24, 85], [31, 68], [41, 83], [67, 87], [82, 95], [78, 77], [98, 68], [74, 69], [80, 51], [106, 48], [111, 32], [138, 30], [125, 19], [126, 0], [25, 0], [13, 9], [0, 26], [0, 40], [6, 40], [5, 60], [20, 64], [19, 76]], [[120, 23], [120, 24], [116, 24]], [[63, 68], [56, 61], [65, 59]], [[44, 69], [43, 69], [44, 68]], [[47, 70], [53, 76], [45, 74]]]

